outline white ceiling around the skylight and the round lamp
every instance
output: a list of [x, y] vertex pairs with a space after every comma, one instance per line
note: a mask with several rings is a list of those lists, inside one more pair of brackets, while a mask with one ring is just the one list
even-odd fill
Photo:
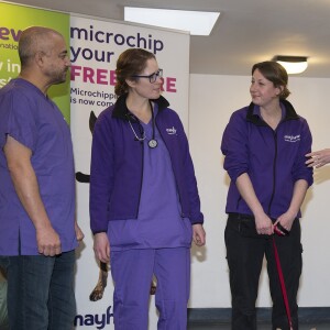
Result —
[[[65, 12], [123, 20], [123, 6], [220, 11], [210, 36], [191, 36], [190, 73], [250, 75], [274, 55], [308, 56], [301, 77], [330, 77], [330, 0], [22, 0]], [[178, 54], [179, 56], [179, 54]]]

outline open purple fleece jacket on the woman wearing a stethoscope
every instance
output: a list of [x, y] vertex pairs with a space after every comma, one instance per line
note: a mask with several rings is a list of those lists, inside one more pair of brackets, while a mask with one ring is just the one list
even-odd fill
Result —
[[[92, 134], [90, 167], [90, 227], [107, 232], [108, 221], [136, 219], [143, 175], [143, 144], [134, 139], [139, 120], [125, 106], [127, 96], [100, 113]], [[187, 136], [178, 114], [164, 97], [155, 103], [155, 124], [169, 152], [182, 217], [202, 223], [200, 200]], [[164, 191], [166, 194], [166, 191]], [[157, 198], [157, 196], [155, 196]]]

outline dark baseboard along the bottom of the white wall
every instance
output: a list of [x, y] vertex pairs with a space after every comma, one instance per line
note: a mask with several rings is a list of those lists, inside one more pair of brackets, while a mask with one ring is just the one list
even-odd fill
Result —
[[[257, 308], [258, 322], [270, 322], [271, 308]], [[229, 323], [231, 308], [188, 308], [189, 322]], [[299, 321], [302, 323], [330, 322], [330, 307], [299, 307]]]

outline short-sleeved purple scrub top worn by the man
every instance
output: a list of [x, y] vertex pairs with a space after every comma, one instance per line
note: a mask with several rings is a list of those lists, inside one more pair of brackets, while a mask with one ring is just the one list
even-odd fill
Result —
[[32, 151], [40, 194], [62, 251], [77, 246], [70, 131], [56, 105], [18, 78], [0, 89], [0, 255], [37, 255], [34, 226], [21, 205], [3, 154], [7, 135]]

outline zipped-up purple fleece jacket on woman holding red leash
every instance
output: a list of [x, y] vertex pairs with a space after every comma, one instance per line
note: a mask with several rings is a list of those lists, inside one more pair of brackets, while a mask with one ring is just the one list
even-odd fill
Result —
[[252, 215], [235, 185], [243, 173], [249, 174], [264, 211], [275, 219], [287, 211], [295, 182], [305, 179], [309, 186], [312, 184], [312, 169], [305, 164], [305, 155], [311, 150], [307, 121], [288, 101], [280, 102], [283, 117], [275, 131], [262, 120], [260, 107], [253, 103], [231, 116], [221, 143], [224, 169], [231, 178], [227, 213]]

